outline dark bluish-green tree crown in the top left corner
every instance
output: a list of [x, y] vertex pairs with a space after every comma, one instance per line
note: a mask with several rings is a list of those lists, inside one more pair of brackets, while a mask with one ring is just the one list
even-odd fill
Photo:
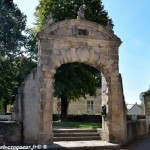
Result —
[[25, 36], [26, 16], [13, 0], [0, 1], [0, 55], [14, 58], [20, 55]]

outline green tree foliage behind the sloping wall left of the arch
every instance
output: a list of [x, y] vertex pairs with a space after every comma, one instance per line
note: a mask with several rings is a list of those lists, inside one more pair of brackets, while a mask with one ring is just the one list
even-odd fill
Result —
[[35, 62], [24, 56], [13, 61], [0, 57], [0, 101], [5, 112], [7, 105], [14, 102], [18, 87], [35, 66]]

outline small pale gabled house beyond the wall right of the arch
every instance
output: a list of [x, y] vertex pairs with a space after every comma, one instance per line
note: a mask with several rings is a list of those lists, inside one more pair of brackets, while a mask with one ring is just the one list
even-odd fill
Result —
[[127, 114], [128, 115], [144, 115], [142, 106], [135, 104], [127, 104]]

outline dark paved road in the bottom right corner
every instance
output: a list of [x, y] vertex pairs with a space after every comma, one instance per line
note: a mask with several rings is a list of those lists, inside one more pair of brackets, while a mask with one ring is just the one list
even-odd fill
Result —
[[127, 145], [126, 150], [150, 150], [150, 135]]

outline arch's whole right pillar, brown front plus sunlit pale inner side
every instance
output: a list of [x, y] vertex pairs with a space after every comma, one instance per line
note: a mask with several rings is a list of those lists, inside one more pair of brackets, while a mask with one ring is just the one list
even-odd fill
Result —
[[110, 83], [102, 76], [102, 105], [107, 108], [107, 116], [102, 121], [102, 140], [126, 143], [127, 124], [120, 75], [112, 75]]

